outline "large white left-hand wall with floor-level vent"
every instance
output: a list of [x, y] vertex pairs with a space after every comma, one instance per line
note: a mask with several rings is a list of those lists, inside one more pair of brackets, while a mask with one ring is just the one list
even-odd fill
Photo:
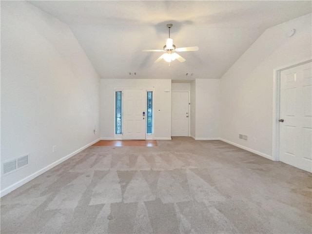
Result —
[[95, 125], [99, 78], [69, 27], [1, 1], [1, 166], [30, 154], [27, 167], [1, 175], [1, 195], [97, 140]]

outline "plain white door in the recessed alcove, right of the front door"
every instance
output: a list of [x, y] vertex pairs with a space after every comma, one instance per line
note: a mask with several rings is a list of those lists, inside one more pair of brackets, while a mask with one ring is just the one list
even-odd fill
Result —
[[171, 136], [189, 136], [189, 92], [171, 92]]

